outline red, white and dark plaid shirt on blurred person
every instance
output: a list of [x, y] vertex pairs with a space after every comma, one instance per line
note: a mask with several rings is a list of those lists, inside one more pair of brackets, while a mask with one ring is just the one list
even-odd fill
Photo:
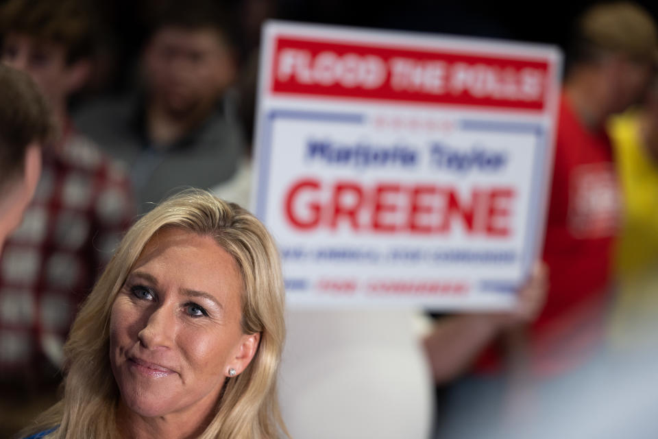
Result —
[[62, 364], [75, 312], [134, 219], [127, 174], [67, 130], [43, 154], [23, 223], [0, 257], [0, 381], [38, 381]]

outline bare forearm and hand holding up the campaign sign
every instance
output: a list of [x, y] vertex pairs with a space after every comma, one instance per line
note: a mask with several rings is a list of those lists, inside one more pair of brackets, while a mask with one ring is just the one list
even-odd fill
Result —
[[435, 322], [424, 346], [437, 384], [461, 375], [503, 331], [512, 330], [537, 318], [546, 298], [548, 272], [537, 263], [531, 278], [519, 292], [515, 308], [506, 313], [470, 313]]

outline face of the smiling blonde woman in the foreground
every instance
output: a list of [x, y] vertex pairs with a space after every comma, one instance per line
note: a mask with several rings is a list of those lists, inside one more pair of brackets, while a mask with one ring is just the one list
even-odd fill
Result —
[[210, 237], [177, 228], [151, 238], [112, 305], [110, 364], [125, 408], [142, 417], [207, 417], [230, 368], [259, 335], [241, 329], [242, 278]]

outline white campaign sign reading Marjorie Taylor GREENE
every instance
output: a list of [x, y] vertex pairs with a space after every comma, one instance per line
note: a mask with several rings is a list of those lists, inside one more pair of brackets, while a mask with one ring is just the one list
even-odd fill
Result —
[[254, 211], [292, 306], [502, 309], [544, 233], [555, 47], [270, 22]]

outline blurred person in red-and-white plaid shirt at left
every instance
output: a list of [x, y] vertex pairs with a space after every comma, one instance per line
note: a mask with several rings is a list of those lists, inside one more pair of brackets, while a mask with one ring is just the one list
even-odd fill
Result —
[[36, 82], [58, 134], [44, 145], [34, 200], [0, 259], [0, 436], [53, 402], [75, 311], [134, 217], [127, 175], [66, 110], [91, 68], [84, 7], [10, 0], [0, 8], [1, 60]]

